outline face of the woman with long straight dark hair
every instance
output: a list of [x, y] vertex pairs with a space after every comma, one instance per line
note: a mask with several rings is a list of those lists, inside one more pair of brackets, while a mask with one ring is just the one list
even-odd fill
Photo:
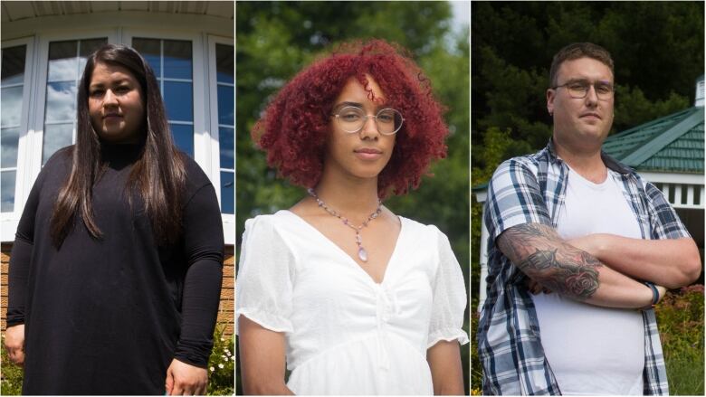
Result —
[[89, 85], [89, 114], [99, 137], [110, 143], [136, 143], [145, 119], [139, 82], [122, 66], [96, 63]]

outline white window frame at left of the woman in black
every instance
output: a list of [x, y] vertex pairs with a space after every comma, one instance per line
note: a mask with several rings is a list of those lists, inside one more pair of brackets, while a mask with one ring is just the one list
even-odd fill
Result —
[[2, 241], [14, 241], [14, 232], [17, 230], [17, 224], [20, 222], [20, 216], [24, 209], [24, 203], [27, 201], [26, 195], [32, 189], [33, 178], [26, 166], [27, 158], [32, 154], [32, 136], [33, 131], [29, 127], [29, 120], [33, 110], [32, 97], [32, 81], [34, 81], [34, 42], [35, 37], [25, 37], [22, 39], [8, 40], [2, 43], [2, 48], [16, 47], [25, 45], [24, 52], [24, 80], [22, 90], [22, 114], [20, 115], [20, 137], [17, 141], [17, 165], [14, 174], [14, 207], [12, 212], [0, 213], [0, 225], [2, 232], [0, 237]]

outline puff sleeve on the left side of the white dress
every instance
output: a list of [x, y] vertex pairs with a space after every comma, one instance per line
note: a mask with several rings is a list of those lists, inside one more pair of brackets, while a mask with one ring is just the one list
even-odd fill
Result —
[[291, 333], [293, 277], [291, 250], [272, 215], [246, 221], [235, 287], [236, 332], [239, 317], [245, 316], [272, 331]]

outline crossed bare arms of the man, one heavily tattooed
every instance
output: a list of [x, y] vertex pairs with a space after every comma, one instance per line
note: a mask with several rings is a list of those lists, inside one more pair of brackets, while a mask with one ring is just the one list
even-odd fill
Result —
[[701, 273], [699, 250], [690, 238], [591, 234], [565, 241], [550, 226], [525, 223], [502, 232], [496, 243], [542, 287], [602, 307], [648, 306], [652, 291], [635, 279], [678, 288]]

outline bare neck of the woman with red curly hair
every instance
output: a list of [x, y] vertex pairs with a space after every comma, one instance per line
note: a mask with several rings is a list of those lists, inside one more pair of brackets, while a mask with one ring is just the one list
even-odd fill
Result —
[[377, 208], [377, 178], [334, 180], [324, 173], [314, 191], [329, 208], [351, 220], [365, 221]]

